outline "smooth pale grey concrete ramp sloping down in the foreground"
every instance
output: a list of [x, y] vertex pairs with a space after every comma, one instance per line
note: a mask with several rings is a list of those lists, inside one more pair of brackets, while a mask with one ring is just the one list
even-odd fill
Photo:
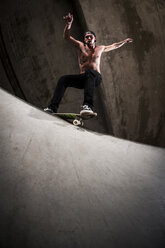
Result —
[[0, 99], [0, 247], [164, 247], [164, 149]]

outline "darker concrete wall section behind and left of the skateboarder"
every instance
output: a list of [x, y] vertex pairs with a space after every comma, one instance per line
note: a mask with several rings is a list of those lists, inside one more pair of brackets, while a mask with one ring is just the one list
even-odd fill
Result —
[[[13, 90], [8, 80], [1, 76], [0, 85], [3, 88], [44, 108], [49, 104], [60, 76], [79, 73], [76, 49], [63, 39], [65, 23], [62, 17], [69, 11], [74, 14], [72, 35], [81, 39], [82, 30], [72, 1], [1, 1], [1, 45], [4, 46], [1, 54]], [[8, 58], [5, 58], [5, 52]], [[2, 66], [0, 69], [4, 75]], [[98, 120], [86, 122], [86, 126], [106, 132], [97, 91]], [[59, 112], [78, 113], [82, 102], [83, 91], [69, 88]]]

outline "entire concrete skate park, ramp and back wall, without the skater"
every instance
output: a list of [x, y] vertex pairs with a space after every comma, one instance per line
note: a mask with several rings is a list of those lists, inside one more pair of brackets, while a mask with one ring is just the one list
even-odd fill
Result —
[[[165, 6], [152, 4], [2, 1], [1, 247], [164, 247]], [[78, 72], [68, 9], [78, 39], [86, 28], [98, 43], [134, 38], [102, 57], [85, 128], [43, 112], [58, 77]], [[60, 110], [82, 97], [69, 89]]]

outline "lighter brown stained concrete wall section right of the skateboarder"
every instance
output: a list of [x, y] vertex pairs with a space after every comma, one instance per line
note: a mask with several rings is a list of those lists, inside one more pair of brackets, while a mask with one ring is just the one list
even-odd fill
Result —
[[115, 136], [165, 145], [165, 2], [81, 0], [98, 44], [134, 43], [102, 56], [102, 92]]

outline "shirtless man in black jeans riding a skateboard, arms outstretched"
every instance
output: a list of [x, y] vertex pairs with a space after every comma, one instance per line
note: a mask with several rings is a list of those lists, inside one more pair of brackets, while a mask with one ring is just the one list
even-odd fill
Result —
[[70, 35], [73, 15], [69, 13], [67, 16], [64, 16], [63, 19], [66, 21], [66, 26], [64, 28], [64, 39], [77, 48], [80, 74], [66, 75], [59, 79], [51, 103], [47, 108], [44, 109], [44, 111], [49, 113], [56, 113], [66, 88], [75, 87], [78, 89], [84, 89], [84, 102], [80, 114], [92, 113], [94, 108], [94, 90], [95, 87], [97, 87], [102, 81], [100, 74], [100, 59], [102, 53], [117, 49], [125, 43], [132, 42], [133, 40], [127, 38], [112, 45], [96, 46], [95, 33], [92, 31], [87, 31], [84, 34], [83, 43], [74, 39]]

